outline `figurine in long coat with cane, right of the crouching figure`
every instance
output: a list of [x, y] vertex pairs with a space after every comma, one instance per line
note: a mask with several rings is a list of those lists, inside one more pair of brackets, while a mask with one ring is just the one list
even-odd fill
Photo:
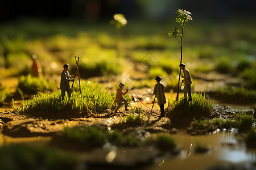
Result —
[[158, 98], [158, 105], [161, 111], [161, 115], [159, 116], [159, 118], [162, 118], [164, 117], [164, 104], [166, 103], [166, 96], [164, 95], [163, 83], [160, 82], [161, 77], [156, 76], [155, 80], [157, 83], [155, 84], [153, 95]]

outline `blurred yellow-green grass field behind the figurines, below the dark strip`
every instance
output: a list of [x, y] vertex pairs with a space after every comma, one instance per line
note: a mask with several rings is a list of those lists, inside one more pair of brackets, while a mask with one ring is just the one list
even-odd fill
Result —
[[[239, 76], [245, 81], [245, 87], [255, 88], [256, 36], [252, 28], [254, 23], [241, 20], [217, 27], [214, 23], [192, 22], [186, 26], [183, 62], [191, 64], [189, 71], [192, 76], [217, 70]], [[177, 82], [175, 75], [179, 72], [177, 58], [180, 50], [175, 40], [167, 33], [163, 34], [163, 30], [168, 32], [169, 29], [168, 23], [129, 21], [122, 28], [122, 57], [117, 58], [114, 29], [109, 23], [85, 25], [67, 20], [47, 23], [22, 19], [17, 23], [3, 24], [0, 32], [5, 34], [1, 35], [0, 63], [7, 69], [1, 68], [0, 74], [8, 77], [29, 73], [30, 54], [38, 52], [36, 55], [42, 63], [43, 73], [47, 75], [59, 75], [60, 69], [57, 68], [62, 68], [63, 63], [75, 66], [75, 55], [81, 57], [80, 75], [83, 78], [122, 75], [129, 71], [127, 63], [137, 64], [151, 52], [160, 65], [146, 71], [147, 82], [161, 74], [168, 86], [176, 89], [172, 83]], [[57, 65], [55, 69], [51, 67], [53, 62]], [[74, 71], [73, 67], [71, 71]], [[147, 87], [148, 83], [140, 83], [139, 87], [142, 86]]]

